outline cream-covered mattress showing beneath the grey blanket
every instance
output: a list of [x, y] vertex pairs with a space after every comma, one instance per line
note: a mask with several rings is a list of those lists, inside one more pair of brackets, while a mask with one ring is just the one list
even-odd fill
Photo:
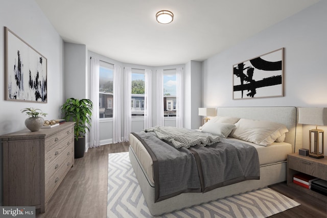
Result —
[[[236, 138], [228, 138], [228, 139], [242, 141], [244, 143], [253, 146], [256, 149], [256, 151], [258, 151], [260, 166], [286, 161], [287, 155], [292, 153], [292, 145], [286, 142], [273, 142], [270, 146], [264, 147], [264, 146], [259, 146], [258, 144], [254, 144]], [[152, 184], [154, 184], [153, 162], [150, 154], [143, 146], [141, 141], [139, 141], [132, 134], [130, 134], [129, 141], [130, 141], [130, 146], [132, 147], [139, 161], [143, 165], [145, 172], [148, 174], [148, 179], [152, 182]]]

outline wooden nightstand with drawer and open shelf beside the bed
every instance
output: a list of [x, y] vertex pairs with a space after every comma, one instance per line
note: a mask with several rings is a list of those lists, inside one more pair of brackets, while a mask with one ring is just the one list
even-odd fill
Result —
[[287, 155], [287, 185], [327, 202], [327, 196], [294, 184], [293, 176], [297, 173], [305, 173], [319, 179], [327, 180], [327, 157], [315, 159], [308, 156], [301, 156], [298, 153]]

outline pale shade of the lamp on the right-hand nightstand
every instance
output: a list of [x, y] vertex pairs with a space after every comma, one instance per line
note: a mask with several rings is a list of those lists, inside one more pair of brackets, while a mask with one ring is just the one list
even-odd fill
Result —
[[298, 123], [316, 126], [327, 125], [327, 108], [298, 108]]

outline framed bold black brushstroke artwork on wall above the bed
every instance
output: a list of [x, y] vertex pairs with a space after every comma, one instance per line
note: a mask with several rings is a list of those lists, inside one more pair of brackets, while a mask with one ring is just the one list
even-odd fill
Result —
[[284, 96], [284, 48], [233, 65], [233, 99]]

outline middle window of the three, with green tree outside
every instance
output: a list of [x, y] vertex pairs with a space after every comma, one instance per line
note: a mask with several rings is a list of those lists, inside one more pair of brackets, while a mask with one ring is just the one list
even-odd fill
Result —
[[144, 70], [132, 68], [131, 80], [132, 117], [144, 117], [145, 77]]

